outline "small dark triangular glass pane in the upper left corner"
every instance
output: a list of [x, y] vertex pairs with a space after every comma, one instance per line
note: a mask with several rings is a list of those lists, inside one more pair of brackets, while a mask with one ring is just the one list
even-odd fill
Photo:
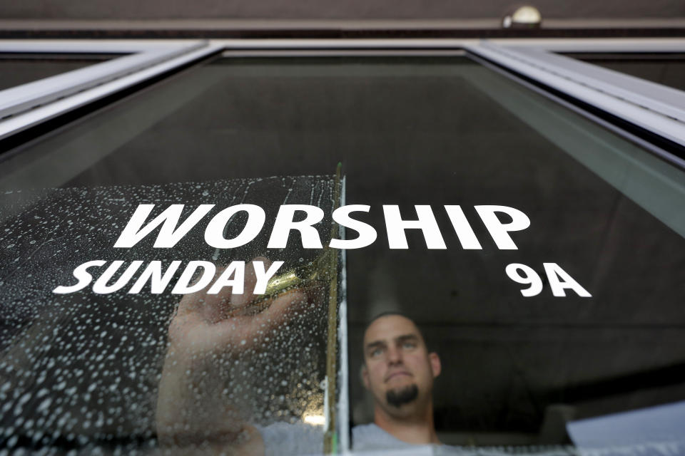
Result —
[[78, 70], [119, 55], [0, 53], [0, 90]]

